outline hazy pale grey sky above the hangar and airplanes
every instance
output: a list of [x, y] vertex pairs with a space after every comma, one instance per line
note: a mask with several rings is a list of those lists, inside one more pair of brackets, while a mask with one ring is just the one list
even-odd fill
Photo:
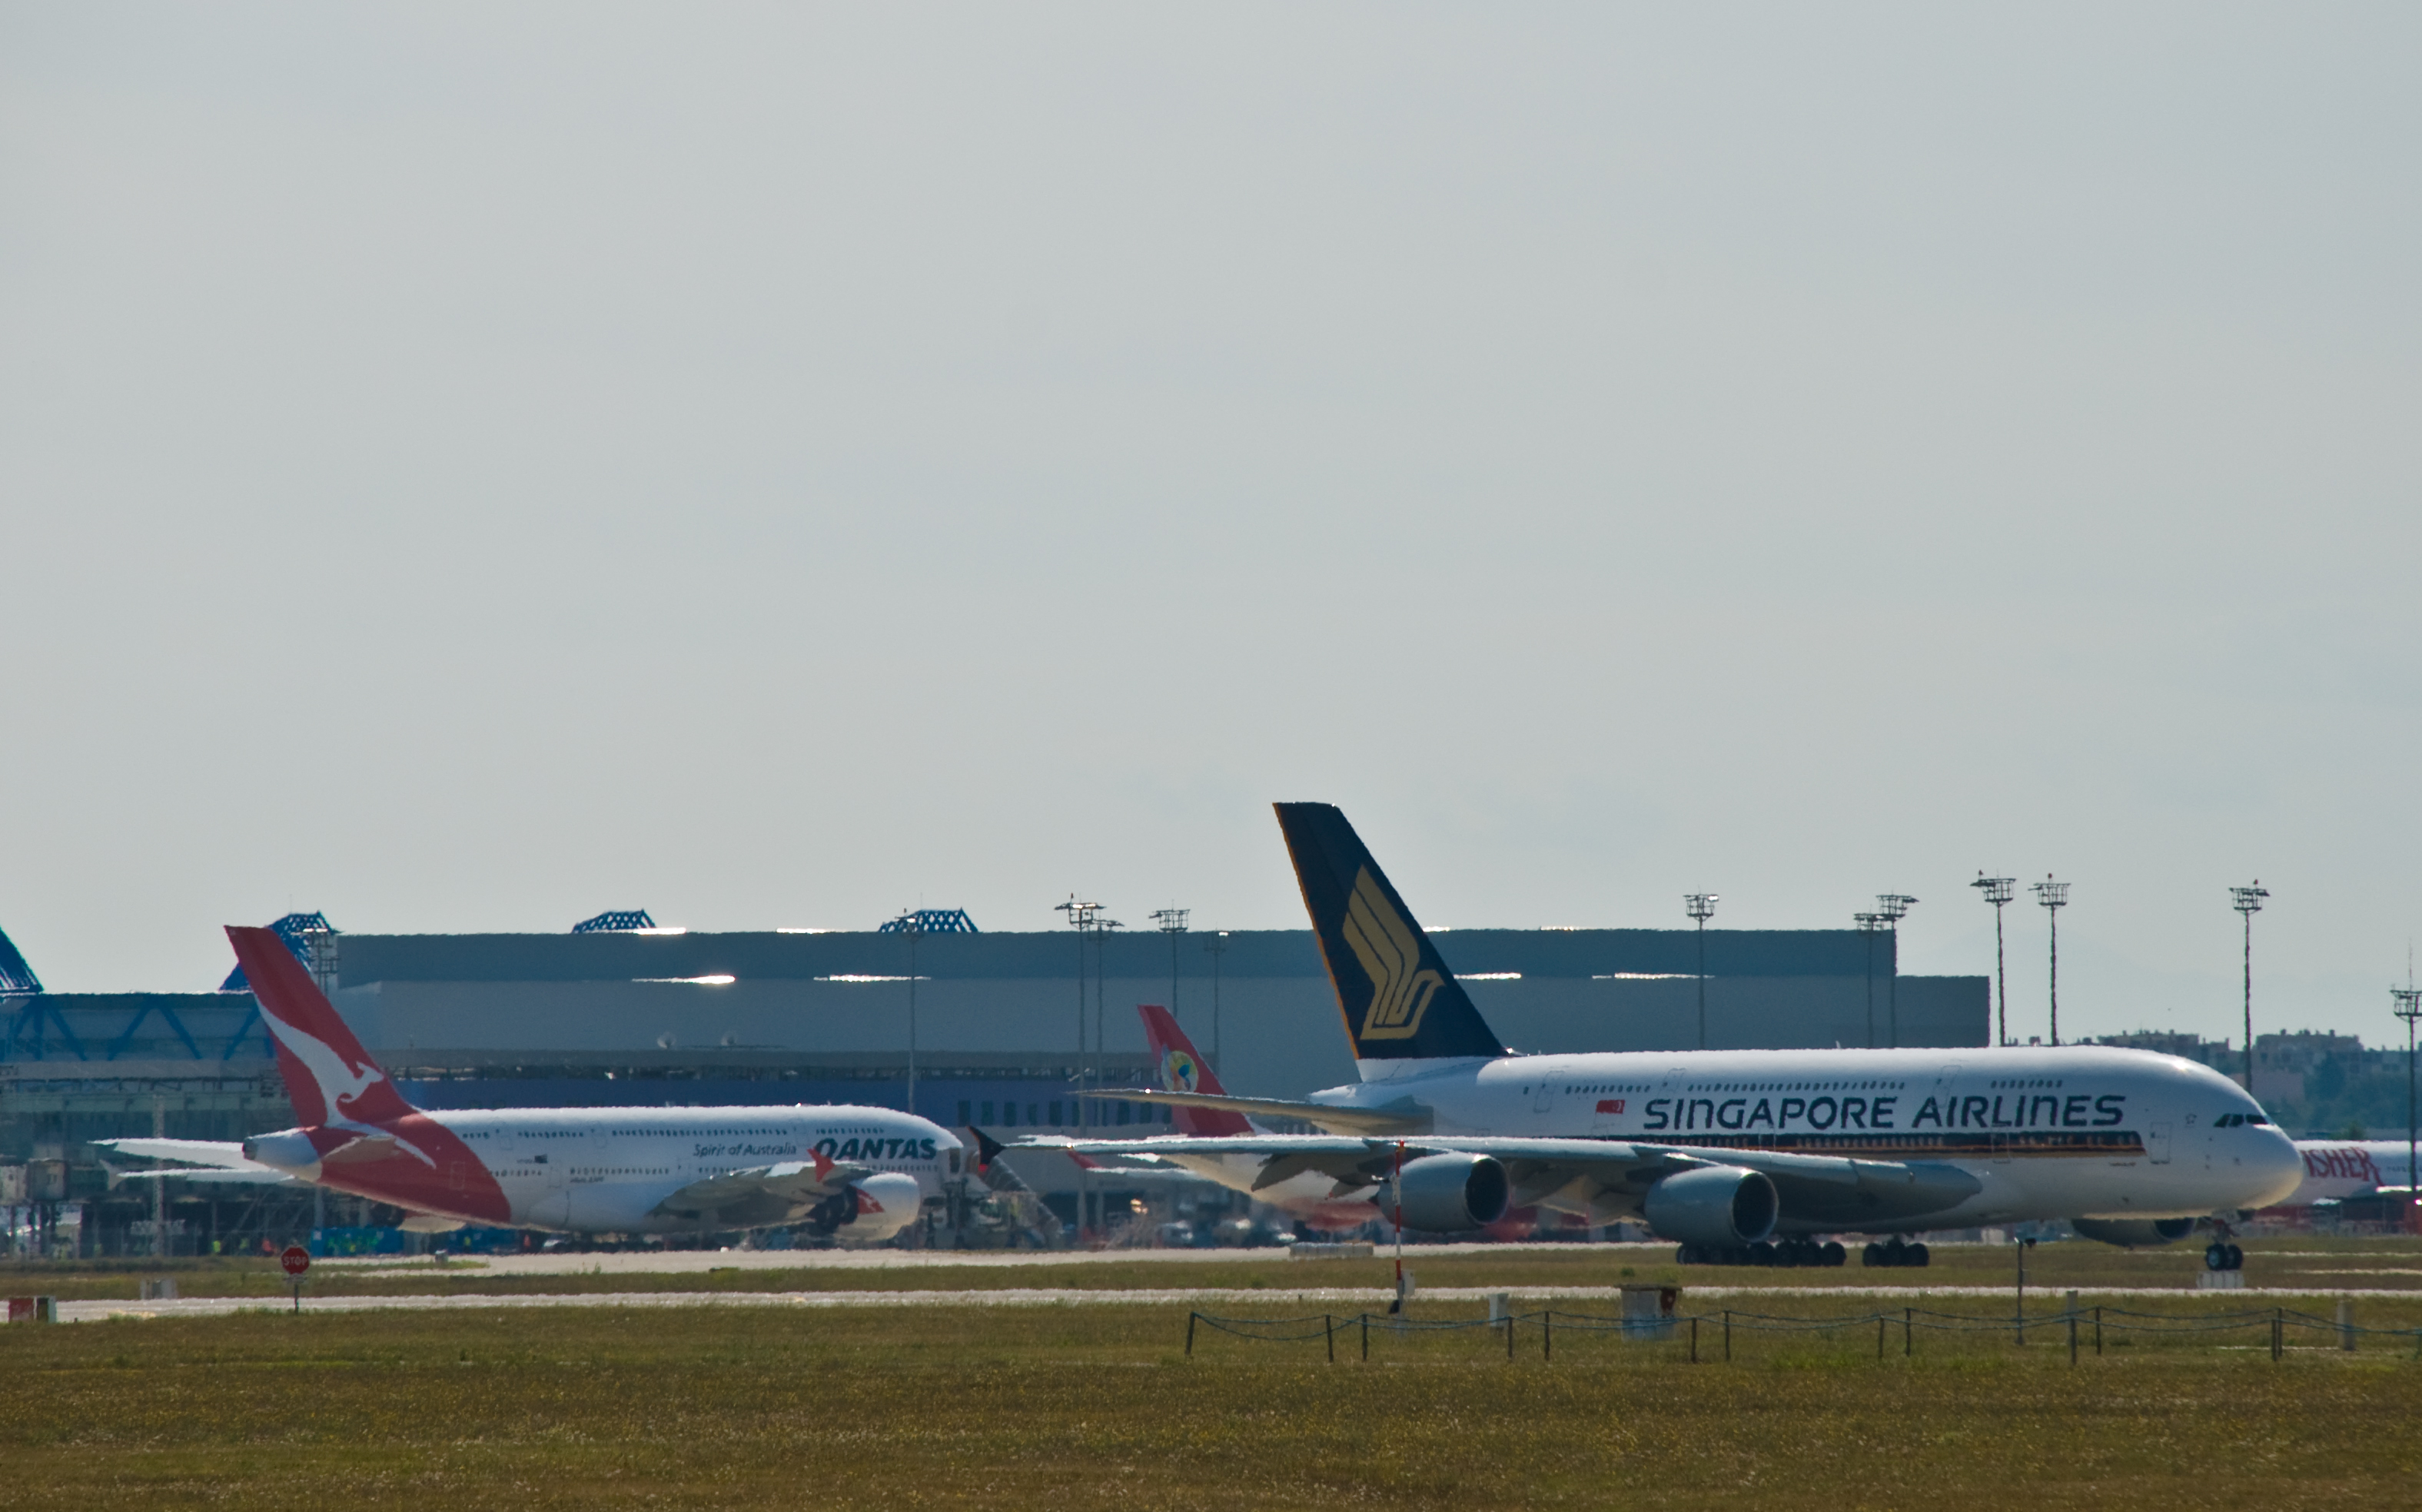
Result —
[[[0, 928], [2076, 882], [2386, 1040], [2422, 12], [0, 5]], [[2013, 904], [2042, 1030], [2042, 911]]]

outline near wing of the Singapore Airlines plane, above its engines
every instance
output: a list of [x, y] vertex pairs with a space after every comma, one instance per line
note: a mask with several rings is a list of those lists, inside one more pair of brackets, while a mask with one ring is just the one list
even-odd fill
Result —
[[[1511, 1139], [1349, 1134], [1257, 1134], [1228, 1139], [1034, 1139], [1075, 1153], [1104, 1156], [1262, 1156], [1255, 1190], [1320, 1170], [1337, 1195], [1378, 1185], [1395, 1163], [1422, 1156], [1490, 1156], [1514, 1182], [1514, 1204], [1560, 1212], [1625, 1212], [1659, 1180], [1700, 1166], [1744, 1166], [1775, 1182], [1783, 1216], [1800, 1224], [1860, 1224], [1921, 1216], [1955, 1207], [1979, 1190], [1974, 1175], [1933, 1161], [1858, 1161], [1758, 1149], [1700, 1149], [1623, 1139]], [[1400, 1153], [1402, 1151], [1402, 1153]]]

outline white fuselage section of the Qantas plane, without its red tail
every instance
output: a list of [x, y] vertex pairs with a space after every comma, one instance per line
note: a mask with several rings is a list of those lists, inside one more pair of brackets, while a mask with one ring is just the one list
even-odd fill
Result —
[[695, 1228], [656, 1214], [673, 1192], [816, 1153], [916, 1178], [937, 1197], [959, 1141], [886, 1107], [487, 1107], [431, 1110], [504, 1190], [511, 1224], [596, 1233]]

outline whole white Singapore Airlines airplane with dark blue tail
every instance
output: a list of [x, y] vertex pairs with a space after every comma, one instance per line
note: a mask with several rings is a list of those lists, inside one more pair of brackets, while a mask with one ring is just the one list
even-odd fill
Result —
[[[1325, 1178], [1431, 1233], [1538, 1204], [1591, 1224], [1642, 1219], [1681, 1260], [1841, 1265], [1809, 1236], [1889, 1236], [1870, 1265], [1923, 1265], [1923, 1228], [2068, 1219], [2119, 1245], [2279, 1202], [2303, 1161], [2240, 1086], [2139, 1049], [1715, 1049], [1514, 1054], [1330, 804], [1276, 804], [1337, 989], [1359, 1086], [1308, 1102], [1201, 1090], [1102, 1093], [1330, 1134], [1136, 1141], [1269, 1190]], [[1242, 1173], [1250, 1170], [1250, 1180]], [[2216, 1260], [2214, 1260], [2216, 1255]], [[2206, 1265], [2231, 1267], [2214, 1243]]]

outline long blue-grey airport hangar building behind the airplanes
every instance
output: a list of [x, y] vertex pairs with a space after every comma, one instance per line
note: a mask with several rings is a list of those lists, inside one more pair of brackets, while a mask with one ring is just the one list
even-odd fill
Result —
[[[959, 911], [918, 918], [710, 933], [630, 911], [564, 935], [368, 935], [295, 913], [279, 928], [424, 1107], [899, 1107], [911, 986], [916, 1112], [940, 1124], [1073, 1129], [1080, 1086], [1158, 1086], [1136, 1003], [1170, 1003], [1235, 1093], [1354, 1081], [1310, 930], [978, 933]], [[1473, 928], [1436, 943], [1523, 1052], [1691, 1049], [1700, 947], [1717, 1049], [1991, 1042], [1986, 979], [1899, 976], [1889, 933]], [[211, 993], [44, 993], [15, 960], [0, 1030], [0, 1163], [293, 1122], [240, 976]], [[1112, 1127], [1143, 1115], [1095, 1107]]]

